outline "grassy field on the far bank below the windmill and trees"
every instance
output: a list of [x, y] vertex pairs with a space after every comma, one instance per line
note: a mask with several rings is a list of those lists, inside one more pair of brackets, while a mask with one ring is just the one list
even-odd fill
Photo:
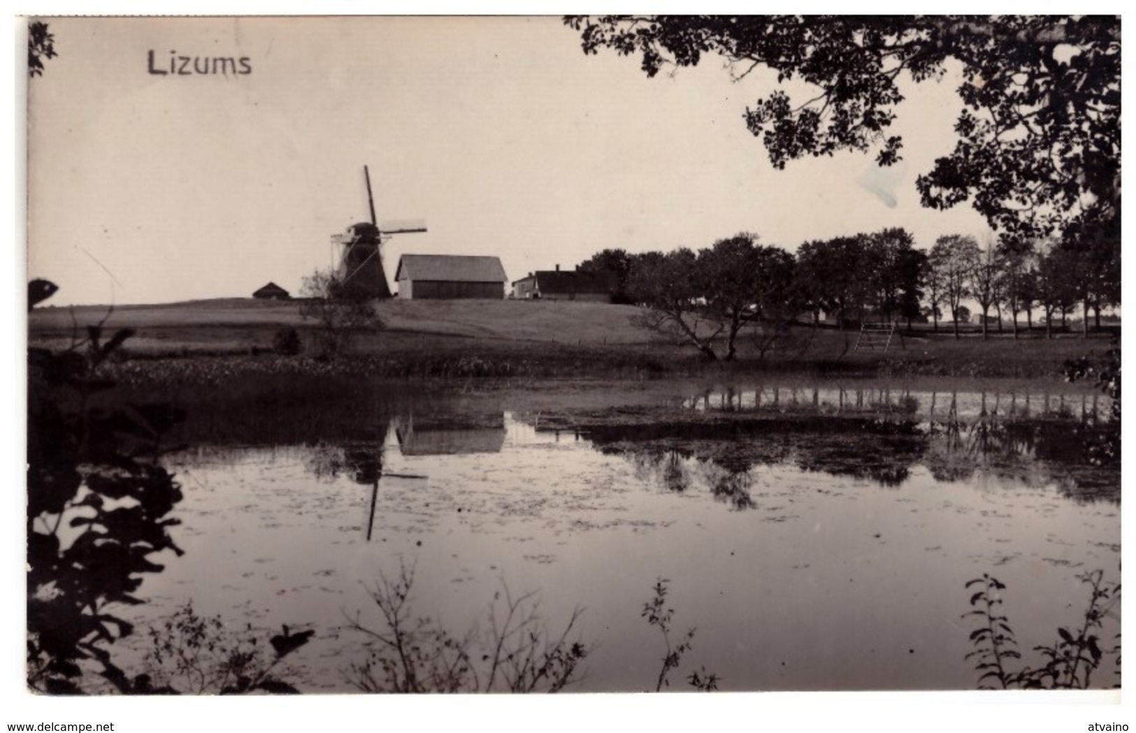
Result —
[[[858, 333], [830, 328], [794, 327], [762, 358], [752, 334], [738, 340], [733, 365], [707, 365], [676, 336], [635, 325], [640, 309], [587, 302], [553, 301], [411, 301], [392, 299], [377, 305], [383, 328], [357, 334], [352, 351], [367, 358], [395, 360], [381, 368], [387, 376], [450, 375], [450, 363], [481, 359], [488, 366], [469, 374], [521, 373], [584, 375], [610, 372], [699, 374], [720, 370], [834, 370], [879, 375], [1056, 377], [1067, 359], [1101, 353], [1111, 338], [1088, 340], [1066, 333], [1044, 339], [1034, 333], [1020, 339], [1010, 333], [977, 333], [954, 339], [949, 330], [937, 334], [922, 327], [893, 340], [886, 353], [857, 351]], [[105, 322], [106, 330], [131, 327], [127, 343], [135, 357], [194, 358], [249, 357], [270, 352], [282, 328], [295, 328], [314, 350], [316, 325], [300, 317], [298, 302], [223, 299], [115, 309], [85, 306], [40, 308], [30, 315], [32, 344], [52, 348], [70, 343], [84, 326]], [[724, 349], [719, 349], [722, 351]], [[534, 366], [535, 365], [535, 366]], [[468, 367], [468, 365], [467, 365]], [[468, 369], [467, 369], [468, 370]], [[463, 372], [458, 372], [463, 374]]]

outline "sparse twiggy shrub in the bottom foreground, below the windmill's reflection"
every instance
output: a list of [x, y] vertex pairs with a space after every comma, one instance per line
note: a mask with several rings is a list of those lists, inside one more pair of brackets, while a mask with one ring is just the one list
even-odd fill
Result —
[[415, 569], [402, 565], [398, 578], [379, 577], [369, 589], [382, 625], [348, 620], [373, 642], [369, 659], [352, 665], [349, 680], [364, 692], [560, 692], [578, 680], [588, 649], [575, 633], [583, 610], [574, 609], [559, 634], [540, 616], [535, 593], [515, 598], [502, 582], [487, 613], [488, 630], [463, 635], [438, 622], [416, 617], [410, 591]]

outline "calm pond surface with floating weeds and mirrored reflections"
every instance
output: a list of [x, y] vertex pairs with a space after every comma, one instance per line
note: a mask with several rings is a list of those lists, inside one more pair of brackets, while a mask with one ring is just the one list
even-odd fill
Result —
[[[351, 692], [382, 627], [368, 589], [414, 572], [408, 603], [457, 636], [498, 595], [535, 592], [588, 655], [573, 691], [974, 689], [972, 589], [989, 574], [1027, 661], [1119, 581], [1120, 472], [1086, 445], [1104, 399], [737, 385], [588, 411], [404, 407], [367, 436], [199, 444], [167, 459], [184, 557], [145, 580], [152, 623], [192, 601], [235, 627], [314, 630], [307, 692]], [[253, 443], [254, 441], [249, 441]], [[500, 615], [498, 619], [500, 620]], [[1102, 644], [1119, 633], [1119, 608]], [[135, 640], [135, 645], [140, 642]], [[1094, 686], [1118, 678], [1106, 658]]]

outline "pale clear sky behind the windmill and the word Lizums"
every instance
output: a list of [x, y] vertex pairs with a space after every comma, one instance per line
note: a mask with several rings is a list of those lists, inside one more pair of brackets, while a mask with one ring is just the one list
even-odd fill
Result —
[[[905, 159], [769, 164], [745, 128], [769, 76], [722, 59], [649, 80], [585, 56], [557, 17], [47, 18], [58, 57], [28, 83], [30, 277], [53, 305], [298, 292], [368, 215], [424, 218], [384, 248], [492, 255], [510, 281], [604, 248], [804, 241], [907, 227], [917, 247], [986, 236], [968, 205], [919, 206], [952, 144], [955, 83], [908, 88]], [[151, 60], [152, 52], [152, 60]], [[172, 57], [248, 59], [177, 75]], [[797, 92], [802, 90], [796, 90]]]

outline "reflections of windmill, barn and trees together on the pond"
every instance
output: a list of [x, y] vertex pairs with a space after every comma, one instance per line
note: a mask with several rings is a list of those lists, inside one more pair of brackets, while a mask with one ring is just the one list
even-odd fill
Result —
[[[735, 510], [754, 508], [751, 488], [758, 469], [782, 465], [885, 488], [903, 485], [921, 467], [939, 482], [1055, 485], [1077, 500], [1119, 501], [1119, 465], [1092, 465], [1085, 459], [1086, 444], [1117, 428], [1106, 418], [1094, 417], [1100, 414], [1092, 411], [1093, 400], [1087, 397], [1080, 402], [1086, 408], [1081, 420], [1069, 417], [1069, 406], [1077, 402], [1063, 398], [976, 393], [960, 399], [958, 393], [930, 393], [926, 414], [936, 417], [922, 418], [919, 398], [908, 392], [858, 390], [843, 397], [842, 392], [836, 392], [837, 405], [845, 406], [840, 418], [825, 413], [819, 390], [775, 389], [768, 406], [803, 405], [811, 414], [799, 410], [786, 416], [776, 407], [762, 410], [758, 407], [761, 390], [727, 390], [700, 395], [698, 405], [699, 409], [716, 405], [713, 409], [730, 411], [730, 419], [568, 430], [562, 424], [542, 428], [535, 418], [531, 423], [554, 443], [568, 434], [573, 442], [628, 458], [636, 475], [650, 485], [671, 493], [705, 491]], [[746, 394], [752, 400], [743, 399]], [[884, 405], [891, 406], [891, 414], [880, 414]], [[862, 416], [868, 410], [872, 417]], [[966, 414], [974, 417], [966, 419]], [[1025, 417], [1030, 414], [1045, 417]], [[511, 419], [503, 411], [465, 417], [454, 424], [400, 416], [370, 441], [317, 445], [307, 466], [321, 478], [348, 475], [373, 489], [369, 539], [381, 478], [426, 480], [420, 474], [384, 474], [384, 450], [396, 450], [403, 457], [500, 453]], [[390, 435], [396, 440], [389, 443]]]

